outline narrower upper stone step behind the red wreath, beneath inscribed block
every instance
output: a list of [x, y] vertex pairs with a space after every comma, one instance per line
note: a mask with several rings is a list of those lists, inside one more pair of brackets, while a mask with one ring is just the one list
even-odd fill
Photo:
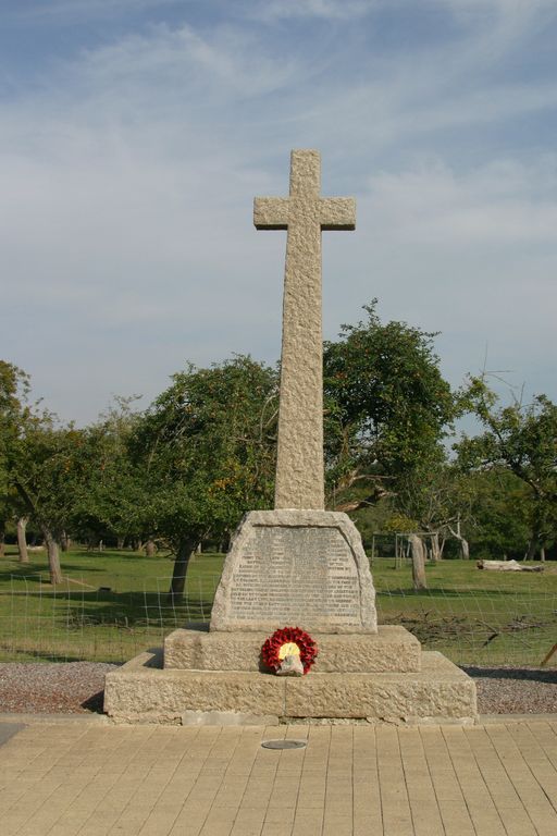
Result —
[[[421, 647], [404, 627], [380, 625], [372, 634], [311, 634], [319, 653], [311, 673], [412, 672]], [[164, 639], [164, 667], [259, 671], [267, 632], [209, 632], [209, 625], [174, 630]]]

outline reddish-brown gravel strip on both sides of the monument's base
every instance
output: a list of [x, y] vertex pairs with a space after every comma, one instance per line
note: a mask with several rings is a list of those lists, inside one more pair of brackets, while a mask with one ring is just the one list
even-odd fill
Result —
[[[0, 663], [0, 713], [102, 711], [104, 674], [116, 665]], [[556, 668], [465, 667], [478, 686], [480, 714], [557, 713]]]

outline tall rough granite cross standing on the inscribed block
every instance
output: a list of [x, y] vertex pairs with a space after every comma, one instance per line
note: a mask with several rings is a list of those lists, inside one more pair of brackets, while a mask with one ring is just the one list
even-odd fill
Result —
[[354, 230], [356, 201], [321, 197], [319, 151], [294, 150], [289, 197], [256, 197], [258, 230], [287, 230], [275, 508], [324, 507], [321, 230]]

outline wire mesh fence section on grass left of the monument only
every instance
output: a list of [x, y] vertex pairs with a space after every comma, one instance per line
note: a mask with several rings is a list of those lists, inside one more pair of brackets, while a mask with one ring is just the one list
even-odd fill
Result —
[[181, 600], [169, 577], [121, 592], [42, 575], [11, 577], [0, 590], [0, 661], [125, 662], [188, 623], [209, 620], [219, 575], [186, 578]]

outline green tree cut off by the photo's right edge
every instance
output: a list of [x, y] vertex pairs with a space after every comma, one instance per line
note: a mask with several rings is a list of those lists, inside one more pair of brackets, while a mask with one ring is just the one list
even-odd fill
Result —
[[555, 532], [557, 512], [557, 406], [545, 395], [528, 405], [515, 401], [498, 407], [483, 377], [472, 377], [467, 396], [485, 431], [456, 445], [460, 466], [468, 470], [506, 468], [527, 488], [530, 500], [530, 543], [533, 558]]

